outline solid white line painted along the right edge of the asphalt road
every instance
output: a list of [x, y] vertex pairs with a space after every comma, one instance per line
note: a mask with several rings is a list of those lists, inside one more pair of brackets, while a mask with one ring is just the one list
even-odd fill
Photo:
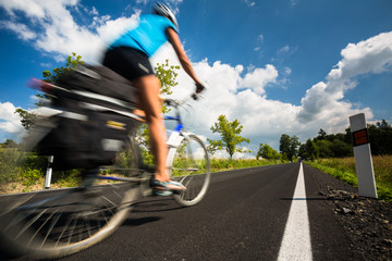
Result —
[[303, 163], [299, 166], [278, 260], [313, 260]]

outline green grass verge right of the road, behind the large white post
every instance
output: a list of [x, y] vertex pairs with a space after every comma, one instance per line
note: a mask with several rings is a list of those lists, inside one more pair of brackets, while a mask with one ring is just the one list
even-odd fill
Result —
[[[354, 158], [319, 159], [306, 163], [358, 187]], [[392, 156], [372, 157], [372, 163], [378, 197], [387, 202], [392, 202]]]

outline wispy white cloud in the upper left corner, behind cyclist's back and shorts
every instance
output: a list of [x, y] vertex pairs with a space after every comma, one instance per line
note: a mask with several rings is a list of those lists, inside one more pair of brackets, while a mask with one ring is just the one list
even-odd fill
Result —
[[[58, 59], [76, 52], [93, 63], [100, 61], [106, 44], [126, 27], [135, 26], [139, 16], [139, 12], [136, 12], [131, 17], [111, 20], [109, 15], [100, 16], [94, 7], [87, 10], [77, 0], [0, 0], [0, 5], [11, 17], [0, 21], [0, 26], [26, 41], [30, 40], [36, 49], [52, 53]], [[75, 22], [73, 15], [78, 12], [85, 12], [81, 15], [89, 17], [90, 25]], [[28, 23], [20, 13], [25, 15]]]

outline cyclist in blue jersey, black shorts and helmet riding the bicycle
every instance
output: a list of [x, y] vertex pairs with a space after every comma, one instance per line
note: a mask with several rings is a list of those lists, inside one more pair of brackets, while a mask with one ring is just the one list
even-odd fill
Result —
[[184, 71], [196, 83], [196, 92], [204, 89], [187, 58], [180, 37], [174, 14], [163, 3], [155, 3], [152, 13], [140, 16], [136, 28], [125, 32], [107, 50], [103, 65], [131, 80], [138, 89], [139, 105], [146, 113], [150, 134], [150, 147], [156, 161], [155, 178], [151, 181], [156, 195], [170, 195], [185, 190], [181, 183], [170, 179], [166, 165], [167, 145], [164, 122], [159, 98], [160, 82], [155, 76], [149, 58], [169, 41]]

